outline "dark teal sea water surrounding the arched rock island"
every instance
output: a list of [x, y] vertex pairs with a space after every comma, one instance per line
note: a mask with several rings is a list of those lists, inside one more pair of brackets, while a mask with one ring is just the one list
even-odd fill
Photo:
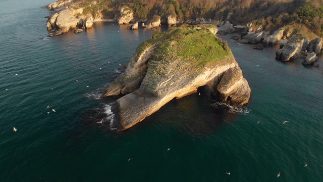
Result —
[[284, 63], [278, 47], [220, 36], [249, 104], [202, 92], [118, 132], [110, 107], [119, 97], [100, 90], [153, 32], [98, 22], [48, 37], [40, 7], [50, 3], [0, 1], [0, 181], [323, 181], [322, 57], [319, 68]]

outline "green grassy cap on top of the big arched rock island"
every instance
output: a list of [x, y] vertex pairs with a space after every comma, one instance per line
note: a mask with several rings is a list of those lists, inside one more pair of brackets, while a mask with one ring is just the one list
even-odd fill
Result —
[[152, 57], [154, 61], [181, 60], [202, 68], [207, 63], [215, 63], [232, 55], [227, 42], [206, 28], [198, 29], [197, 26], [177, 27], [163, 33], [156, 32], [138, 46], [135, 54], [140, 55], [145, 48], [157, 42], [157, 49]]

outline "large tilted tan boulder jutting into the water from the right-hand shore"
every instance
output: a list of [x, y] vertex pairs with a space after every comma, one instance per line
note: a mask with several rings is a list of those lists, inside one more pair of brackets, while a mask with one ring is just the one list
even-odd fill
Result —
[[284, 45], [284, 47], [276, 52], [276, 58], [282, 61], [296, 59], [303, 47], [304, 37], [301, 34], [293, 35]]

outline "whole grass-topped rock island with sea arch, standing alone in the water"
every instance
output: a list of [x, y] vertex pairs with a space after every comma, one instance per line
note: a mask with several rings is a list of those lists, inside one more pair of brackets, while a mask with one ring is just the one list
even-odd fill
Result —
[[127, 94], [112, 106], [113, 127], [128, 129], [204, 85], [222, 102], [249, 101], [250, 87], [231, 50], [208, 28], [177, 27], [138, 46], [125, 72], [103, 90], [102, 97]]

